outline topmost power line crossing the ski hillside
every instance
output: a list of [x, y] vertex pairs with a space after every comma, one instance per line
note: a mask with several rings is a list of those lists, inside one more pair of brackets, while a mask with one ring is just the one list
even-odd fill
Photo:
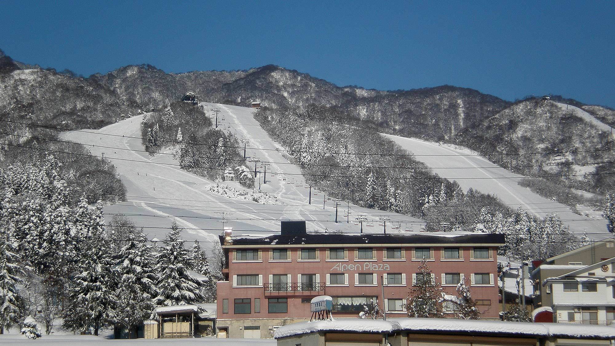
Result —
[[[141, 139], [144, 140], [145, 138], [143, 137], [133, 137], [133, 136], [127, 136], [127, 135], [114, 135], [114, 134], [105, 134], [105, 133], [101, 133], [101, 132], [94, 132], [94, 131], [87, 131], [87, 130], [76, 130], [76, 129], [68, 129], [66, 127], [56, 127], [56, 126], [46, 126], [46, 125], [39, 125], [39, 124], [32, 124], [32, 123], [23, 123], [20, 121], [10, 121], [10, 120], [5, 120], [5, 119], [0, 119], [0, 121], [4, 121], [6, 123], [14, 123], [14, 124], [22, 124], [22, 125], [27, 125], [27, 126], [38, 126], [38, 127], [46, 127], [49, 129], [57, 129], [57, 130], [62, 130], [62, 131], [74, 131], [74, 132], [84, 132], [84, 133], [89, 133], [89, 134], [96, 134], [96, 135], [108, 135], [108, 136], [113, 136], [113, 137], [124, 137], [124, 138], [130, 138], [130, 139]], [[146, 140], [146, 139], [145, 139]], [[164, 139], [157, 139], [159, 142], [167, 142], [167, 143], [185, 143], [185, 144], [191, 144], [191, 145], [204, 145], [207, 147], [224, 147], [224, 148], [235, 148], [235, 149], [243, 149], [243, 147], [235, 147], [232, 145], [218, 145], [217, 143], [215, 144], [208, 144], [208, 143], [195, 143], [195, 142], [178, 142], [177, 140], [164, 140]], [[253, 150], [261, 150], [261, 151], [280, 151], [277, 149], [266, 149], [266, 148], [252, 148]], [[352, 153], [352, 152], [341, 152], [341, 151], [302, 151], [302, 150], [292, 150], [292, 149], [287, 149], [284, 151], [290, 152], [290, 153], [315, 153], [315, 154], [338, 154], [338, 155], [365, 155], [365, 156], [513, 156], [513, 155], [541, 155], [541, 154], [565, 154], [565, 153], [588, 153], [588, 152], [598, 152], [598, 151], [613, 151], [615, 149], [594, 149], [594, 150], [573, 150], [573, 151], [538, 151], [538, 152], [528, 152], [528, 153], [500, 153], [500, 154], [489, 154], [489, 155], [482, 155], [482, 154], [446, 154], [446, 155], [439, 155], [439, 154], [426, 154], [426, 155], [415, 155], [415, 154], [395, 154], [395, 153]]]

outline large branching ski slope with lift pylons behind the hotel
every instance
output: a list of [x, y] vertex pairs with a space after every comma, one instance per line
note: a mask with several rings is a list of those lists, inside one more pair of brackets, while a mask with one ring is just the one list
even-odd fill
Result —
[[[180, 169], [178, 161], [173, 160], [172, 155], [151, 156], [141, 152], [145, 150], [141, 139], [129, 138], [141, 136], [140, 124], [143, 116], [135, 116], [99, 130], [69, 131], [61, 135], [65, 140], [84, 144], [92, 155], [103, 156], [104, 153], [105, 159], [116, 167], [127, 188], [127, 202], [106, 206], [107, 221], [111, 220], [111, 214], [126, 215], [138, 227], [145, 228], [149, 239], [164, 239], [167, 228], [176, 220], [180, 227], [185, 228], [184, 239], [197, 239], [205, 246], [218, 243], [217, 236], [221, 234], [223, 227], [232, 227], [237, 233], [242, 233], [239, 230], [271, 233], [279, 231], [280, 219], [307, 220], [308, 230], [358, 232], [360, 226], [354, 222], [355, 217], [365, 215], [370, 220], [363, 222], [363, 230], [366, 233], [383, 230], [383, 226], [378, 225], [379, 217], [407, 222], [397, 231], [420, 230], [423, 222], [419, 219], [343, 202], [338, 207], [339, 223], [335, 223], [335, 202], [325, 199], [322, 192], [312, 188], [312, 204], [308, 204], [309, 189], [300, 175], [299, 167], [290, 164], [282, 152], [277, 151], [279, 145], [253, 118], [255, 110], [215, 103], [201, 105], [210, 116], [214, 116], [212, 108], [220, 109], [218, 129], [230, 127], [230, 131], [239, 139], [249, 141], [247, 156], [280, 163], [268, 167], [266, 184], [263, 184], [263, 177], [260, 176], [261, 191], [277, 196], [278, 204], [259, 204], [212, 193], [207, 187], [215, 182]], [[238, 190], [244, 189], [236, 182], [220, 184]], [[256, 188], [258, 189], [258, 183]], [[400, 224], [387, 222], [387, 231], [394, 231], [394, 225]]]

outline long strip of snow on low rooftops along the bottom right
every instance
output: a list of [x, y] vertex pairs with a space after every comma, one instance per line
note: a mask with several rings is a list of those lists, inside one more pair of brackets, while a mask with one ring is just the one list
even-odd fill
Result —
[[447, 318], [391, 318], [360, 320], [341, 318], [333, 321], [310, 321], [287, 324], [278, 328], [276, 339], [311, 332], [438, 332], [444, 334], [473, 334], [533, 337], [574, 337], [579, 339], [613, 339], [615, 328], [587, 324], [504, 322], [488, 320], [454, 320]]

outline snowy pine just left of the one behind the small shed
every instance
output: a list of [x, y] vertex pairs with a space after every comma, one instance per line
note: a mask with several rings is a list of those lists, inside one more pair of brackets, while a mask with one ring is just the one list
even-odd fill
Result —
[[128, 328], [129, 338], [132, 339], [138, 324], [154, 310], [157, 276], [151, 250], [145, 244], [143, 232], [132, 233], [127, 239], [127, 243], [117, 255], [119, 284], [116, 290], [115, 320]]

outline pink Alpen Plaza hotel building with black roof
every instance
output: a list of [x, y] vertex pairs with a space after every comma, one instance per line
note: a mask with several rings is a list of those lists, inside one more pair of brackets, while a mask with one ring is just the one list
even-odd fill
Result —
[[370, 299], [387, 317], [403, 317], [412, 284], [427, 279], [418, 273], [422, 259], [446, 294], [456, 295], [464, 281], [482, 318], [499, 316], [496, 253], [503, 235], [308, 234], [305, 222], [285, 221], [280, 235], [220, 242], [226, 268], [218, 281], [219, 337], [272, 337], [281, 325], [309, 320], [310, 300], [322, 295], [333, 297], [335, 317], [358, 316]]

